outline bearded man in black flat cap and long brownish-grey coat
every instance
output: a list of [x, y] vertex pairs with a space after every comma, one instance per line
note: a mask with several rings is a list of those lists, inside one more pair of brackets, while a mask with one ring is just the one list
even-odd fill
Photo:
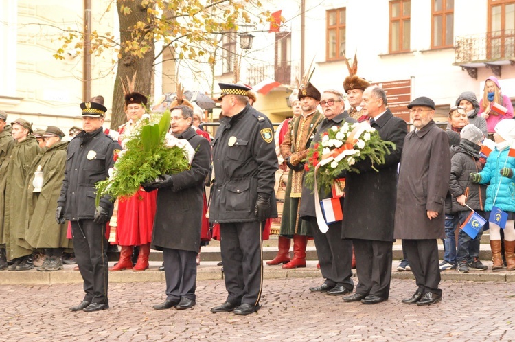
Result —
[[437, 239], [445, 237], [449, 141], [433, 121], [433, 100], [416, 98], [408, 109], [415, 130], [406, 135], [400, 159], [394, 237], [402, 239], [417, 284], [402, 303], [431, 305], [442, 299]]

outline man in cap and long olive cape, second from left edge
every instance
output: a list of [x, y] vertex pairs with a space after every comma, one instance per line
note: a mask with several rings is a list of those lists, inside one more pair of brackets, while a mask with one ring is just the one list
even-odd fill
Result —
[[17, 119], [11, 123], [12, 137], [16, 140], [9, 156], [7, 183], [5, 185], [5, 212], [3, 214], [3, 237], [6, 243], [8, 260], [12, 264], [9, 271], [27, 271], [34, 268], [32, 247], [25, 241], [25, 214], [20, 203], [25, 192], [25, 179], [30, 164], [40, 148], [34, 135], [32, 123]]

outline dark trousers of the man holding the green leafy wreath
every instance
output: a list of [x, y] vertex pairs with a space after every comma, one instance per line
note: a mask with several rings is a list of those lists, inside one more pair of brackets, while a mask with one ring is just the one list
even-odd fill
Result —
[[194, 251], [163, 248], [166, 299], [177, 301], [186, 297], [195, 300], [196, 255]]

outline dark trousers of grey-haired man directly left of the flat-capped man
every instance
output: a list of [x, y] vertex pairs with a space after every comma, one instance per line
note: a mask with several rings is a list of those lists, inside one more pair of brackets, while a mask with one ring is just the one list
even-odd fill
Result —
[[358, 286], [356, 293], [388, 299], [391, 281], [392, 245], [390, 241], [352, 240], [356, 255]]

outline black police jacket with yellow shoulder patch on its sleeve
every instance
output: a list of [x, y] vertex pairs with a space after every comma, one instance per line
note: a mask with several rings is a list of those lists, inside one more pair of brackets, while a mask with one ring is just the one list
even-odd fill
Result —
[[222, 117], [213, 146], [215, 180], [209, 220], [251, 222], [258, 194], [270, 197], [271, 218], [277, 217], [273, 186], [279, 168], [273, 126], [249, 104], [233, 117]]

